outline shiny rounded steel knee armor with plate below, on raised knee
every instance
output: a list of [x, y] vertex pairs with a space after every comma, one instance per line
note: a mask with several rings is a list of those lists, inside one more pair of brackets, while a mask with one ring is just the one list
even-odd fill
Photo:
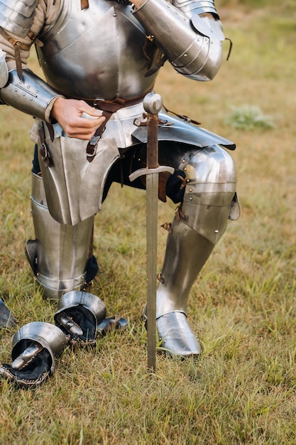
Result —
[[234, 161], [225, 149], [212, 145], [182, 164], [186, 186], [180, 218], [216, 244], [227, 220], [239, 218]]

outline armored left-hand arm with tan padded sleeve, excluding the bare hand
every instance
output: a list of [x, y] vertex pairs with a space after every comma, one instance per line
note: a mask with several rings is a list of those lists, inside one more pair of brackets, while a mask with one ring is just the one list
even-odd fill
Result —
[[26, 69], [34, 18], [35, 28], [42, 26], [41, 11], [35, 16], [37, 5], [38, 0], [0, 0], [0, 104], [50, 120], [50, 104], [60, 95]]

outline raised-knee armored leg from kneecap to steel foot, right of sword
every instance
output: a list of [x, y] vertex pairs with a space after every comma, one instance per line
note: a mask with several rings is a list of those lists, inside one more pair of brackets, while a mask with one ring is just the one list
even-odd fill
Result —
[[156, 323], [165, 350], [183, 356], [202, 352], [187, 323], [187, 301], [197, 274], [226, 230], [236, 168], [224, 149], [209, 146], [184, 157], [180, 169], [186, 175], [185, 195], [168, 235]]

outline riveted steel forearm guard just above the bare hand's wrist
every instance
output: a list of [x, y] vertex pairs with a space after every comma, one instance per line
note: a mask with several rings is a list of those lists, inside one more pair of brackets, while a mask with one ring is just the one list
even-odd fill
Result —
[[5, 104], [45, 120], [48, 104], [60, 95], [31, 70], [23, 70], [20, 80], [14, 69], [9, 71], [9, 80], [6, 86], [1, 88], [0, 97]]

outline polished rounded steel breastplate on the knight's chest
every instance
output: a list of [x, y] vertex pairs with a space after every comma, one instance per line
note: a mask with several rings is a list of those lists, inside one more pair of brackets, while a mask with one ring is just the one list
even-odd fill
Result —
[[93, 0], [81, 10], [80, 0], [63, 0], [60, 15], [40, 40], [44, 46], [37, 53], [46, 80], [64, 95], [129, 99], [145, 94], [155, 82], [156, 74], [145, 74], [158, 49], [131, 6]]

